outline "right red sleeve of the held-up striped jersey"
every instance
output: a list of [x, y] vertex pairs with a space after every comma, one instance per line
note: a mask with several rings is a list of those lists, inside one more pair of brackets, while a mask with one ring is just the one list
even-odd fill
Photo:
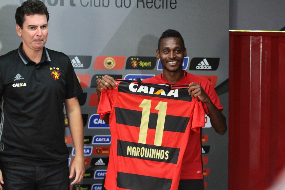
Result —
[[192, 115], [191, 129], [195, 132], [200, 132], [200, 127], [205, 127], [205, 112], [201, 101], [197, 98], [194, 102], [194, 110]]

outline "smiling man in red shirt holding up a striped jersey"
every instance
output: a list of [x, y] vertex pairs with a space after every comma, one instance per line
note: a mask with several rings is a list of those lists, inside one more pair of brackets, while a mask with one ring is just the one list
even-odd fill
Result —
[[[162, 63], [162, 74], [152, 78], [143, 79], [145, 83], [188, 85], [189, 98], [198, 97], [202, 102], [205, 113], [211, 120], [211, 125], [218, 134], [223, 135], [226, 130], [226, 118], [222, 114], [223, 107], [220, 104], [215, 89], [206, 78], [187, 73], [182, 69], [183, 58], [187, 56], [184, 40], [176, 30], [166, 30], [160, 36], [157, 59]], [[105, 75], [98, 84], [96, 91], [100, 100], [103, 89], [113, 89], [117, 82], [114, 78]], [[177, 105], [185, 108], [185, 105]], [[175, 110], [173, 110], [175, 112]], [[104, 117], [105, 123], [109, 122], [109, 115]], [[180, 127], [177, 123], [176, 127]], [[189, 141], [185, 149], [182, 161], [182, 169], [178, 190], [204, 190], [202, 156], [201, 156], [201, 127], [198, 131], [190, 132]], [[108, 183], [106, 181], [105, 183]]]

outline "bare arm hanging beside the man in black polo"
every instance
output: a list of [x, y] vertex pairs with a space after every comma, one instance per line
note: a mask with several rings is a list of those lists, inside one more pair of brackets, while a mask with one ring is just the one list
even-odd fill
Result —
[[76, 172], [75, 179], [71, 183], [71, 185], [73, 185], [78, 182], [81, 182], [85, 173], [84, 151], [83, 151], [83, 138], [84, 138], [83, 121], [77, 97], [65, 100], [65, 110], [75, 149], [75, 158], [74, 161], [72, 162], [70, 168], [70, 176], [69, 176], [70, 179], [73, 178]]

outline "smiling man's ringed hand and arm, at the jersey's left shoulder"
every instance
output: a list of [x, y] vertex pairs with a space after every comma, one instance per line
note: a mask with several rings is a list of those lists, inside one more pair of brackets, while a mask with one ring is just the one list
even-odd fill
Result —
[[[101, 81], [98, 83], [97, 88], [96, 88], [98, 102], [100, 102], [101, 92], [103, 89], [105, 90], [107, 89], [112, 90], [113, 88], [117, 89], [117, 86], [116, 86], [117, 84], [118, 83], [115, 81], [115, 79], [112, 76], [109, 76], [109, 75], [102, 76]], [[109, 116], [110, 116], [110, 113], [106, 114], [103, 118], [106, 124], [109, 124]]]

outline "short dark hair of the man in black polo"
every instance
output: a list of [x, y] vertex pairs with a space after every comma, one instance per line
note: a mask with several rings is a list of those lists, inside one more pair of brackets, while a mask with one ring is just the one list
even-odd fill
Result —
[[25, 15], [34, 14], [45, 14], [47, 21], [50, 15], [47, 11], [47, 7], [40, 0], [28, 0], [22, 3], [20, 7], [17, 8], [15, 18], [16, 23], [23, 29], [23, 23], [25, 21]]

